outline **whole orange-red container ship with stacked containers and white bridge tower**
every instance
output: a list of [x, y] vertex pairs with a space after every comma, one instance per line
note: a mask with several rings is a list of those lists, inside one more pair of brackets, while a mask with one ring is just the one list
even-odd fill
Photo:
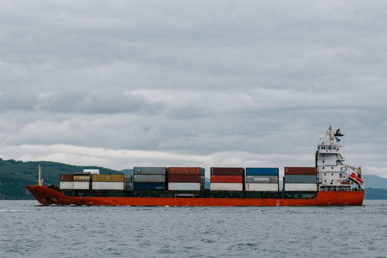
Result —
[[42, 205], [99, 206], [361, 206], [361, 168], [346, 165], [340, 130], [329, 127], [317, 145], [315, 166], [279, 169], [212, 167], [205, 189], [201, 167], [134, 167], [133, 175], [84, 170], [61, 174], [59, 185], [26, 185]]

